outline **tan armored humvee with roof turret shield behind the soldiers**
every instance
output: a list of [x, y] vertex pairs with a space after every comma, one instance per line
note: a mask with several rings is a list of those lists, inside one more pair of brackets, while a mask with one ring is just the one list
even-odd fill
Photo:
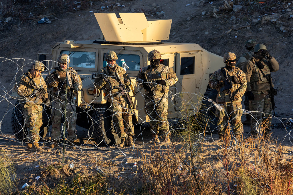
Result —
[[[144, 13], [119, 13], [119, 15], [120, 18], [117, 18], [115, 13], [95, 13], [101, 29], [99, 39], [65, 40], [56, 43], [52, 47], [51, 54], [38, 54], [38, 60], [43, 61], [50, 70], [58, 67], [56, 61], [60, 54], [70, 53], [69, 66], [78, 71], [83, 81], [82, 89], [75, 92], [77, 124], [89, 129], [89, 137], [98, 144], [104, 142], [119, 144], [120, 141], [111, 126], [112, 117], [108, 110], [110, 97], [105, 90], [96, 89], [93, 83], [95, 73], [106, 66], [104, 55], [107, 51], [113, 50], [117, 53], [118, 65], [122, 64], [123, 59], [129, 67], [126, 71], [135, 88], [134, 93], [129, 93], [135, 105], [136, 114], [133, 115], [135, 123], [148, 121], [144, 113], [142, 94], [144, 90], [139, 89], [135, 78], [140, 68], [149, 65], [147, 57], [151, 50], [158, 50], [162, 55], [161, 63], [172, 67], [178, 76], [178, 82], [170, 88], [169, 92], [172, 97], [168, 100], [170, 119], [181, 118], [181, 111], [186, 108], [194, 110], [200, 103], [197, 95], [205, 95], [215, 101], [217, 91], [209, 88], [209, 76], [219, 67], [224, 66], [223, 57], [208, 52], [198, 44], [164, 42], [169, 39], [172, 20], [147, 19]], [[49, 55], [52, 55], [52, 64], [47, 63]], [[180, 92], [183, 93], [180, 95]], [[48, 93], [51, 93], [50, 89]], [[13, 91], [12, 95], [17, 94]], [[49, 97], [52, 100], [52, 95]], [[185, 107], [181, 106], [183, 104]], [[50, 109], [45, 111], [42, 128], [50, 124]], [[212, 122], [209, 124], [210, 129], [217, 122], [215, 117], [212, 119], [214, 121], [210, 120]], [[19, 105], [12, 113], [12, 126], [16, 137], [23, 138], [24, 125]]]

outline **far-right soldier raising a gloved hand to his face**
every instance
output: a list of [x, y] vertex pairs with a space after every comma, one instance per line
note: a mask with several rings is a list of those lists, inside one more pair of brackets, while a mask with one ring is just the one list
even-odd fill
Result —
[[[270, 83], [268, 76], [270, 72], [279, 70], [280, 66], [277, 60], [270, 55], [267, 48], [263, 44], [255, 45], [251, 59], [243, 64], [243, 72], [246, 74], [249, 108], [254, 117], [251, 119], [251, 134], [260, 134], [260, 126], [265, 119], [268, 119], [268, 126], [264, 129], [265, 136], [272, 130], [270, 124], [272, 122], [272, 102], [268, 95]], [[271, 83], [272, 87], [274, 86]], [[267, 113], [263, 114], [261, 112]]]

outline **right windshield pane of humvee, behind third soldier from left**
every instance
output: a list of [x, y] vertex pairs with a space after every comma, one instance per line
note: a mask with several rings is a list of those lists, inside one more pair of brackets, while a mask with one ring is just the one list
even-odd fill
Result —
[[[105, 59], [105, 54], [106, 53], [104, 53], [103, 60]], [[126, 71], [139, 71], [139, 69], [140, 69], [139, 55], [136, 55], [136, 54], [118, 54], [117, 57], [118, 57], [118, 60], [116, 61], [116, 64], [118, 64], [119, 66], [122, 67], [122, 63], [123, 63], [123, 61], [121, 61], [121, 59], [122, 59], [122, 60], [125, 61], [126, 66], [129, 67], [129, 69], [126, 68]], [[107, 63], [104, 60], [103, 61], [103, 67], [105, 67], [106, 64]]]

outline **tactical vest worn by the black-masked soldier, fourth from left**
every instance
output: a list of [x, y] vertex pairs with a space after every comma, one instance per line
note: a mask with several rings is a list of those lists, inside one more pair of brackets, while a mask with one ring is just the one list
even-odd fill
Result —
[[[161, 93], [167, 93], [169, 91], [169, 86], [163, 86], [156, 84], [156, 81], [158, 80], [166, 80], [167, 79], [167, 73], [170, 71], [170, 68], [167, 66], [164, 66], [163, 64], [160, 64], [156, 71], [151, 70], [151, 66], [146, 67], [147, 70], [142, 70], [146, 73], [147, 79], [149, 83], [154, 87], [155, 91], [159, 91]], [[145, 81], [146, 82], [146, 81]]]

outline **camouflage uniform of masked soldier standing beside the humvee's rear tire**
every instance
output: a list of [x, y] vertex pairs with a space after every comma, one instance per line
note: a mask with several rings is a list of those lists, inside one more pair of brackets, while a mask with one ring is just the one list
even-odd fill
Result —
[[[226, 67], [226, 66], [225, 66]], [[209, 78], [209, 86], [212, 89], [217, 89], [219, 92], [217, 95], [217, 103], [221, 105], [223, 108], [221, 111], [216, 109], [216, 115], [219, 117], [218, 120], [218, 134], [224, 135], [225, 130], [227, 127], [228, 120], [232, 120], [231, 124], [233, 127], [233, 132], [235, 135], [241, 135], [243, 132], [243, 126], [241, 122], [241, 116], [242, 116], [242, 105], [241, 105], [241, 97], [246, 91], [246, 78], [245, 74], [239, 69], [239, 68], [232, 68], [230, 71], [228, 71], [225, 67], [222, 67], [221, 69], [215, 71], [212, 76]], [[228, 76], [229, 81], [233, 82], [233, 88], [231, 89], [233, 98], [236, 96], [239, 97], [238, 101], [231, 100], [229, 97], [228, 90], [224, 90], [220, 92], [220, 89], [224, 87], [224, 84], [221, 84], [220, 86], [217, 85], [218, 81], [224, 81], [225, 80], [225, 73]], [[238, 84], [234, 82], [234, 76], [236, 76], [236, 79], [238, 80]]]

